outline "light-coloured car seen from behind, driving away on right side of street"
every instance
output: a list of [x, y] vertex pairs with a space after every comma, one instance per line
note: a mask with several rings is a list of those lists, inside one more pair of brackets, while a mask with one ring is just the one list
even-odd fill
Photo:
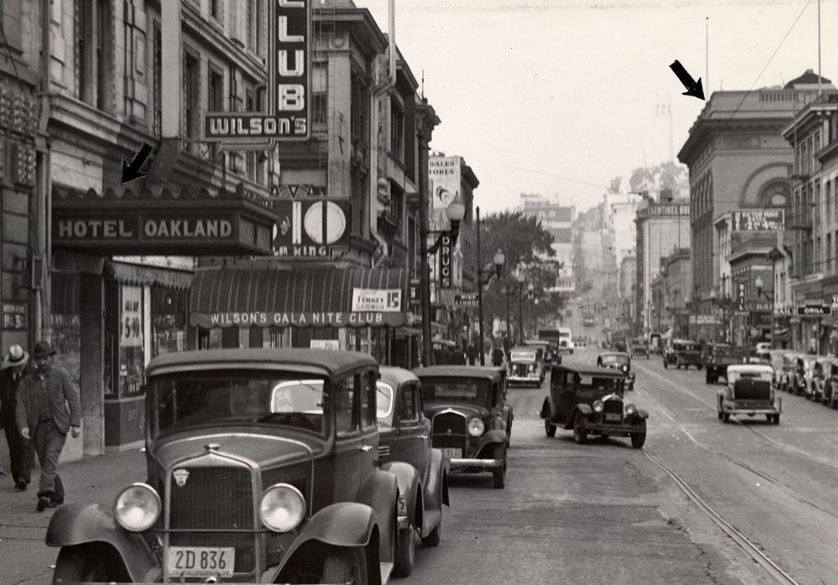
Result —
[[779, 424], [782, 398], [774, 396], [773, 374], [765, 364], [728, 366], [727, 386], [716, 395], [719, 419], [727, 423], [731, 416], [764, 414], [768, 422]]

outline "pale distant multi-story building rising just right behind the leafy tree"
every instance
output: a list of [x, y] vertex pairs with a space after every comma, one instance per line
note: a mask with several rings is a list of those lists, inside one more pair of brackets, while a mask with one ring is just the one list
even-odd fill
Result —
[[561, 292], [572, 295], [576, 289], [574, 274], [574, 232], [573, 223], [576, 218], [576, 208], [572, 205], [562, 205], [559, 198], [547, 198], [540, 193], [521, 193], [521, 210], [526, 217], [535, 217], [541, 225], [553, 236], [552, 248], [556, 251], [553, 256], [561, 262], [561, 269], [556, 275], [556, 285], [550, 292]]

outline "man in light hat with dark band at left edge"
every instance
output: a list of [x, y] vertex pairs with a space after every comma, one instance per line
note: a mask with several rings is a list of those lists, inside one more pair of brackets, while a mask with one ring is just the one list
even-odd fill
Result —
[[15, 422], [15, 405], [20, 381], [23, 379], [29, 354], [21, 346], [11, 346], [0, 368], [0, 428], [6, 432], [8, 455], [12, 462], [12, 479], [16, 490], [25, 490], [31, 481], [34, 465], [32, 444], [24, 440]]

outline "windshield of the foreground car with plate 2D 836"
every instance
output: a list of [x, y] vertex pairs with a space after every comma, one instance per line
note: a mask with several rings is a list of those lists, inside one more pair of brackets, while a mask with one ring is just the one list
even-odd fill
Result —
[[298, 372], [189, 372], [154, 377], [153, 437], [184, 428], [265, 423], [325, 435], [322, 377]]

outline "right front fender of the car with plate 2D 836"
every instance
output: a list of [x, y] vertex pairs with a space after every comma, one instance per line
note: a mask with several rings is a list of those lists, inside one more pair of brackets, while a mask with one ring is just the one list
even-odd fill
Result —
[[[339, 502], [327, 505], [312, 516], [283, 555], [277, 577], [282, 582], [281, 577], [289, 567], [310, 564], [311, 556], [322, 552], [319, 544], [331, 547], [367, 547], [371, 541], [379, 540], [382, 534], [375, 520], [375, 510], [366, 504]], [[368, 578], [370, 584], [380, 585], [380, 572], [373, 570], [378, 568], [380, 552], [370, 548], [367, 547], [367, 562], [370, 567]]]

